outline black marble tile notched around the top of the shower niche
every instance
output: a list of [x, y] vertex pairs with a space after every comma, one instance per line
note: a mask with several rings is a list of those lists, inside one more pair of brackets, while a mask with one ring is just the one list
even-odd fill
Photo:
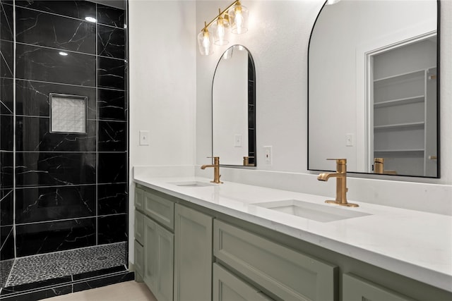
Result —
[[94, 87], [59, 85], [32, 80], [16, 80], [16, 114], [49, 116], [50, 93], [88, 97], [88, 119], [96, 118], [96, 90]]

